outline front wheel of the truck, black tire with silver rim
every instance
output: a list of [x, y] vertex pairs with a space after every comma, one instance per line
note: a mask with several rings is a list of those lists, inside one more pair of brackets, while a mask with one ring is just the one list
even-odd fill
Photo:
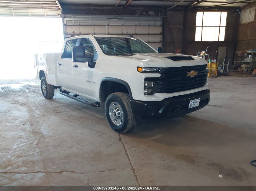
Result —
[[125, 133], [136, 125], [131, 111], [130, 97], [125, 92], [115, 92], [107, 97], [105, 115], [109, 126], [118, 133]]

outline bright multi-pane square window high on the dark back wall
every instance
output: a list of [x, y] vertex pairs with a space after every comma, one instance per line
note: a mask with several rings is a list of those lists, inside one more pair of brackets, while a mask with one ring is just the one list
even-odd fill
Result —
[[195, 41], [224, 41], [226, 12], [197, 12]]

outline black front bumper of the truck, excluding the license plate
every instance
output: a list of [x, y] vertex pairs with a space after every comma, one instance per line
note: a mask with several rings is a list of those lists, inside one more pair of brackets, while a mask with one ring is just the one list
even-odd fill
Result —
[[[199, 106], [188, 109], [190, 100], [200, 99]], [[137, 121], [154, 121], [180, 117], [200, 110], [210, 101], [210, 90], [202, 90], [192, 94], [185, 94], [166, 98], [162, 101], [131, 100], [131, 110]]]

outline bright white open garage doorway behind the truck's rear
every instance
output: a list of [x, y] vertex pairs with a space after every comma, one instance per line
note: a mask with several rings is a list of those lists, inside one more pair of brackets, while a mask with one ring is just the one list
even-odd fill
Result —
[[35, 53], [59, 52], [62, 18], [0, 17], [0, 79], [35, 78]]

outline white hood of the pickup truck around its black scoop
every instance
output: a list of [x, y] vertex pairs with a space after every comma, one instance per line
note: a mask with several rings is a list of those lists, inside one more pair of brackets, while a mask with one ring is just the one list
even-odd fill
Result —
[[178, 66], [190, 66], [190, 65], [203, 65], [207, 64], [206, 60], [197, 57], [197, 56], [191, 56], [192, 60], [171, 60], [170, 58], [166, 57], [176, 57], [176, 56], [188, 56], [188, 55], [182, 55], [182, 54], [169, 54], [169, 53], [137, 53], [132, 56], [121, 56], [126, 57], [128, 59], [138, 60], [138, 61], [145, 61], [148, 63], [150, 67], [178, 67]]

